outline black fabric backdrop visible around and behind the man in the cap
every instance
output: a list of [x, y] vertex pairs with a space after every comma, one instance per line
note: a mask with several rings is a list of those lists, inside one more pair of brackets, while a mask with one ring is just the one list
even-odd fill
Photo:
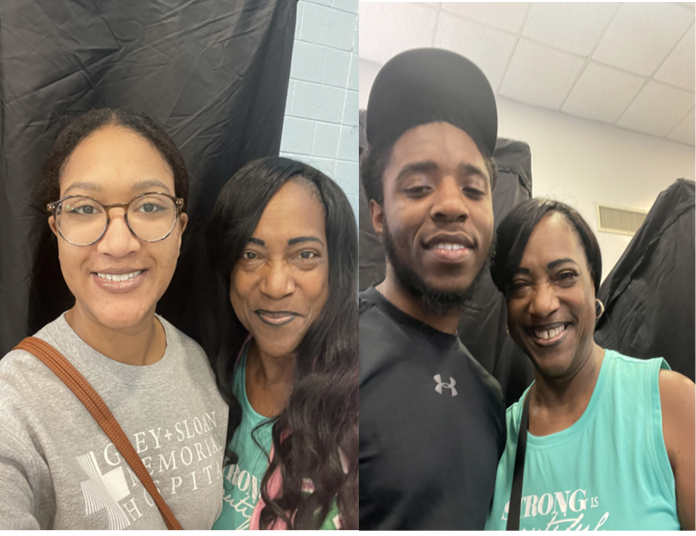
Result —
[[[360, 147], [366, 146], [363, 135], [364, 112], [360, 113]], [[498, 164], [498, 182], [493, 192], [493, 214], [497, 226], [513, 207], [532, 195], [532, 157], [526, 143], [500, 138], [494, 153]], [[384, 279], [385, 254], [372, 227], [367, 196], [360, 185], [360, 290]], [[472, 355], [500, 383], [506, 405], [516, 402], [532, 383], [534, 371], [529, 358], [506, 335], [505, 298], [493, 284], [486, 270], [483, 281], [463, 311], [457, 332]]]

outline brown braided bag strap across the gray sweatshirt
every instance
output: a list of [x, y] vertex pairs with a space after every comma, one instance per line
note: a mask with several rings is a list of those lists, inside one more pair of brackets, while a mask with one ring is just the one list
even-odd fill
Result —
[[77, 398], [85, 405], [87, 411], [92, 414], [92, 417], [97, 421], [102, 430], [109, 436], [109, 439], [114, 443], [114, 446], [123, 455], [123, 458], [128, 462], [133, 471], [145, 486], [145, 489], [150, 494], [157, 504], [164, 522], [169, 530], [182, 530], [181, 525], [174, 517], [174, 514], [164, 502], [164, 499], [157, 491], [155, 483], [152, 481], [150, 474], [145, 469], [140, 456], [135, 452], [133, 445], [128, 440], [121, 426], [118, 424], [114, 416], [109, 411], [109, 408], [104, 404], [104, 401], [99, 397], [94, 388], [80, 374], [77, 369], [61, 355], [53, 346], [46, 341], [37, 339], [36, 337], [27, 337], [14, 348], [15, 350], [24, 350], [35, 355], [44, 364], [55, 372], [65, 385], [75, 393]]

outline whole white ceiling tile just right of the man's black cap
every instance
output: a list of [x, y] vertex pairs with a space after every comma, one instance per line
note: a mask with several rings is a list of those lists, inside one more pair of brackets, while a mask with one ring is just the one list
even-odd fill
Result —
[[529, 104], [559, 109], [584, 60], [520, 39], [500, 94]]

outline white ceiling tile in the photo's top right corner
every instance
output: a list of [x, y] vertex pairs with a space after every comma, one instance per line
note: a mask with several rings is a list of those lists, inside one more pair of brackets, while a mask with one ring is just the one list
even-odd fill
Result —
[[593, 59], [649, 76], [693, 20], [693, 12], [667, 2], [622, 4]]

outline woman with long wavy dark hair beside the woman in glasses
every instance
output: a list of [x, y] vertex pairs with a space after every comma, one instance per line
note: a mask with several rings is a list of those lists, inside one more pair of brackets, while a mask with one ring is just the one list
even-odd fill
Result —
[[358, 243], [348, 199], [311, 166], [254, 161], [222, 189], [207, 249], [202, 336], [230, 405], [214, 528], [357, 529]]

